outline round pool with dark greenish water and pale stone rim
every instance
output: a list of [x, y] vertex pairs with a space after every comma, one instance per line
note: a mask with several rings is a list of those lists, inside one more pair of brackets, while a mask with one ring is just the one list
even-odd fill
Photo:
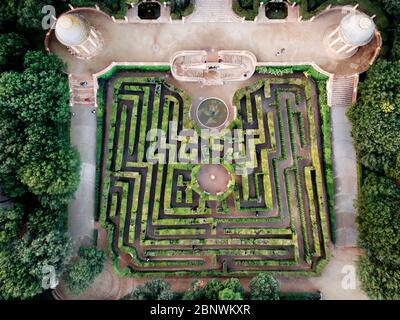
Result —
[[227, 122], [229, 110], [222, 100], [208, 98], [203, 100], [197, 107], [196, 117], [202, 126], [208, 129], [216, 129]]

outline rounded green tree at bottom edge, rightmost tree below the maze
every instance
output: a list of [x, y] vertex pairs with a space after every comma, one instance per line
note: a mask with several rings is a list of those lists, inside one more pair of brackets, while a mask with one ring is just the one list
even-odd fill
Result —
[[266, 273], [259, 273], [250, 280], [252, 300], [279, 300], [279, 283]]

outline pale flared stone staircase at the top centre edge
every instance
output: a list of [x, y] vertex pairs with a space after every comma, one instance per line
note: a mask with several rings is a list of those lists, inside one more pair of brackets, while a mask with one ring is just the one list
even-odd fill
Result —
[[235, 22], [241, 21], [232, 10], [232, 0], [196, 0], [192, 15], [187, 22]]

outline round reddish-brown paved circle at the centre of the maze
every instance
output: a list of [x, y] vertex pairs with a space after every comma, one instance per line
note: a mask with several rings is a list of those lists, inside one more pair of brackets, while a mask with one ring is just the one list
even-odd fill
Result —
[[200, 188], [211, 195], [226, 192], [231, 180], [232, 176], [221, 164], [202, 165], [197, 174], [197, 182]]

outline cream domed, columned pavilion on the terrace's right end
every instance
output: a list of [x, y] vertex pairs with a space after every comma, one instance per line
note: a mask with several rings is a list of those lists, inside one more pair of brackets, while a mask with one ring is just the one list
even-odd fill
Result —
[[359, 47], [372, 41], [375, 29], [372, 18], [363, 13], [352, 12], [328, 33], [325, 42], [337, 59], [350, 58]]

